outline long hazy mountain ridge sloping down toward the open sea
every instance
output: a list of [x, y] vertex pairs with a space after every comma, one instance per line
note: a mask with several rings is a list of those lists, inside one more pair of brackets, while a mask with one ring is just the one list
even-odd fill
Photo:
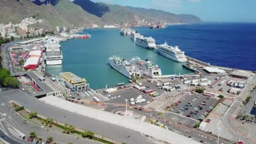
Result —
[[131, 6], [110, 5], [106, 3], [93, 3], [91, 0], [74, 0], [83, 10], [98, 16], [109, 24], [120, 21], [164, 21], [165, 23], [195, 23], [201, 22], [200, 18], [189, 14], [174, 14], [166, 11], [134, 8]]

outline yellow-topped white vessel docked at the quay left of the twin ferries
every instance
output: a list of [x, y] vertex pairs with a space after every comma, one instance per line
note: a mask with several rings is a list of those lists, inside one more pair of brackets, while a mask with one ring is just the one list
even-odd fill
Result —
[[79, 89], [89, 89], [89, 84], [86, 84], [85, 78], [78, 77], [72, 72], [61, 72], [59, 74], [61, 82], [70, 88], [72, 91], [77, 92]]

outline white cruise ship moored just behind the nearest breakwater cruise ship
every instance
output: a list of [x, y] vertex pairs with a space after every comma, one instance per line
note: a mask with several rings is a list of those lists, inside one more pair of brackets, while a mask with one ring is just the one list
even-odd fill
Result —
[[137, 37], [135, 43], [143, 48], [148, 48], [151, 50], [156, 48], [155, 39], [152, 37]]

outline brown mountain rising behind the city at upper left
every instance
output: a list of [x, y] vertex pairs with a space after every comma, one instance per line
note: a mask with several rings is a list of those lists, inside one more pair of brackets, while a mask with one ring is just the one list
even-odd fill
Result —
[[92, 24], [103, 24], [101, 18], [87, 13], [69, 0], [51, 0], [51, 5], [45, 5], [44, 0], [31, 1], [1, 0], [0, 23], [19, 23], [23, 18], [37, 15], [38, 19], [45, 19], [46, 22], [35, 25], [51, 29], [56, 26], [91, 27]]

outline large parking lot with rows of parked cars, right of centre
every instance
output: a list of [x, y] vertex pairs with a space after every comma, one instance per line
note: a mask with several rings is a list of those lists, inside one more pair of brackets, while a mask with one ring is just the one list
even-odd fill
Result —
[[[192, 119], [197, 120], [201, 115], [205, 114], [206, 111], [210, 110], [209, 107], [213, 107], [217, 99], [209, 98], [202, 95], [187, 95], [180, 101], [177, 101], [175, 104], [175, 109], [170, 112], [176, 113], [183, 116], [188, 116]], [[204, 104], [203, 104], [204, 103]], [[202, 108], [200, 109], [199, 104], [202, 104]]]

